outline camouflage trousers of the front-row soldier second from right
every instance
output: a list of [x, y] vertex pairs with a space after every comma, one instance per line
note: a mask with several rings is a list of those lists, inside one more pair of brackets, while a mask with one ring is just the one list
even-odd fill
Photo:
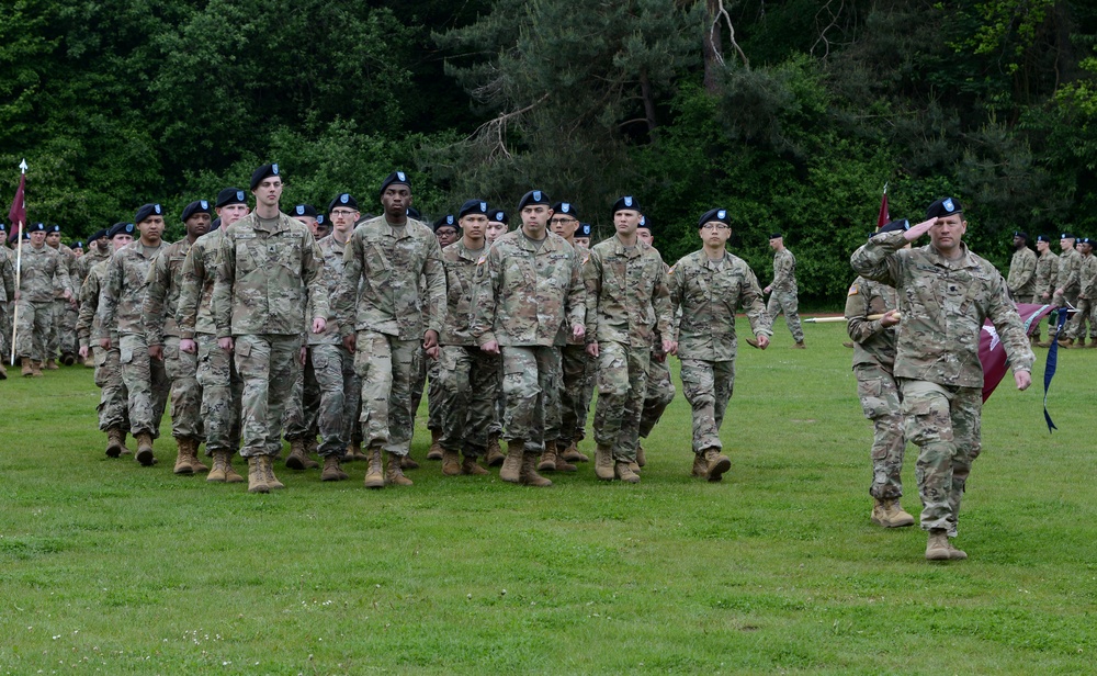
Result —
[[613, 460], [635, 462], [652, 350], [611, 341], [598, 350], [595, 441], [612, 448]]

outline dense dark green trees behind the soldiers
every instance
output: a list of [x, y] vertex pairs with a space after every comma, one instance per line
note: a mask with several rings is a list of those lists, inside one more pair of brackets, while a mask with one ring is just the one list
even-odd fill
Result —
[[827, 302], [885, 182], [896, 217], [970, 204], [1003, 263], [1014, 229], [1097, 235], [1095, 44], [1083, 0], [14, 0], [0, 205], [22, 157], [73, 238], [267, 160], [287, 202], [400, 167], [431, 215], [536, 185], [603, 234], [631, 192], [668, 260], [726, 206], [760, 277], [781, 230]]

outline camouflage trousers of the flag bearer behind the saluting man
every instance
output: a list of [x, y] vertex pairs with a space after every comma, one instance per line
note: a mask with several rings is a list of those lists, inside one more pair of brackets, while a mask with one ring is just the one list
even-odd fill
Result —
[[903, 397], [890, 371], [878, 364], [853, 367], [857, 396], [864, 417], [872, 420], [872, 485], [869, 495], [880, 500], [903, 497]]

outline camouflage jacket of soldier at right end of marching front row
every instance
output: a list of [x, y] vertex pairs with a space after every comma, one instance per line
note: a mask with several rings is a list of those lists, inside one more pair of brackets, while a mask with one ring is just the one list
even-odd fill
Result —
[[742, 258], [724, 254], [723, 260], [710, 261], [702, 249], [675, 263], [668, 278], [680, 359], [733, 361], [739, 306], [755, 335], [773, 335], [758, 279]]

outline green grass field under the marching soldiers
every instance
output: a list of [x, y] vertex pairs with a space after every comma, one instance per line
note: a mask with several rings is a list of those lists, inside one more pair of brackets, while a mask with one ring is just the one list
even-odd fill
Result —
[[[16, 370], [0, 673], [1092, 673], [1097, 350], [1061, 352], [1051, 436], [1047, 351], [1029, 392], [1007, 375], [961, 515], [971, 559], [931, 564], [917, 527], [869, 521], [841, 325], [805, 326], [806, 351], [776, 329], [740, 353], [722, 484], [689, 477], [677, 380], [638, 486], [591, 464], [547, 489], [443, 478], [420, 426], [414, 487], [366, 491], [352, 463], [249, 495], [172, 475], [167, 420], [155, 467], [106, 459], [90, 370]], [[917, 515], [909, 449], [904, 478]]]

